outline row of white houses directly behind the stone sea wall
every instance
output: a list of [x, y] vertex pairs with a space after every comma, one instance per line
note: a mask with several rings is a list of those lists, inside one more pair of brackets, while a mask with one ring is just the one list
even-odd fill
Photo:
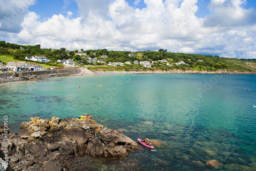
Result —
[[37, 63], [30, 63], [27, 62], [16, 62], [16, 61], [9, 61], [5, 66], [2, 64], [0, 66], [2, 70], [12, 70], [12, 71], [27, 71], [27, 70], [45, 70], [44, 67]]

